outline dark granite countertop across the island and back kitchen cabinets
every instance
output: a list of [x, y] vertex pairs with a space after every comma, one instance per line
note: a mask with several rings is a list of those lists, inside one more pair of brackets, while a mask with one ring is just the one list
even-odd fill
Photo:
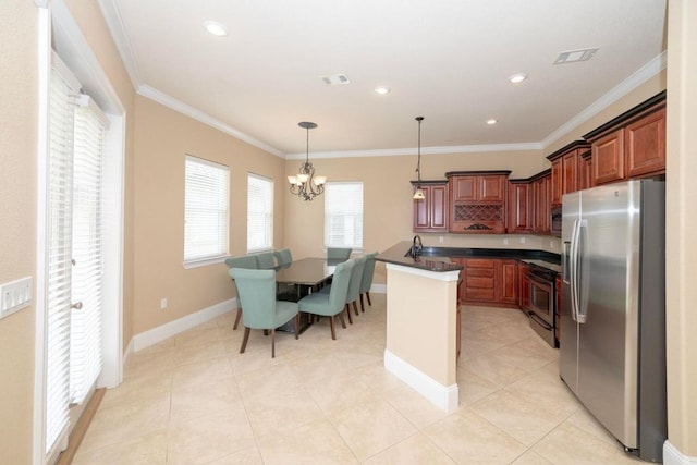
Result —
[[425, 246], [420, 256], [412, 258], [407, 253], [412, 247], [408, 241], [399, 242], [376, 257], [376, 260], [405, 267], [420, 268], [428, 271], [453, 271], [462, 266], [450, 261], [450, 258], [508, 258], [534, 262], [559, 272], [561, 258], [559, 254], [545, 250], [526, 250], [517, 248], [468, 248], [468, 247], [431, 247]]

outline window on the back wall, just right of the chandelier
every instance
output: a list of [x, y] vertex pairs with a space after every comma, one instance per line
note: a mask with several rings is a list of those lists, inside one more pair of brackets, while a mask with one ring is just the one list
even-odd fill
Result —
[[325, 246], [363, 248], [363, 183], [327, 183]]

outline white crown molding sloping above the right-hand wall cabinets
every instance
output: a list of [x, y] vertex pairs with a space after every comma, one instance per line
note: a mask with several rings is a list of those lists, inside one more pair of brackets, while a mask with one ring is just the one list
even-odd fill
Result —
[[646, 63], [644, 66], [635, 71], [629, 77], [617, 84], [614, 88], [600, 97], [598, 100], [589, 105], [580, 113], [568, 120], [566, 123], [559, 126], [557, 131], [545, 137], [540, 143], [543, 147], [548, 147], [555, 140], [559, 140], [566, 134], [571, 133], [576, 127], [580, 126], [586, 121], [604, 110], [615, 101], [620, 100], [625, 95], [659, 74], [668, 65], [668, 54], [663, 50], [659, 56]]

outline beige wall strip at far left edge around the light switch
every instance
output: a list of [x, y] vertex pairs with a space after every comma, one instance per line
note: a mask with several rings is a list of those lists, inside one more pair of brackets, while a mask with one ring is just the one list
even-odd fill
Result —
[[[0, 2], [0, 282], [35, 274], [37, 12]], [[32, 461], [34, 306], [0, 320], [0, 463]]]

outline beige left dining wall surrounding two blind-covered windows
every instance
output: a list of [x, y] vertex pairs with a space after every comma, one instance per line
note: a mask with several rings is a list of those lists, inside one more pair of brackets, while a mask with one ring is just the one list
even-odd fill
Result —
[[[283, 241], [284, 160], [144, 97], [135, 119], [134, 332], [234, 296], [224, 264], [184, 269], [185, 154], [230, 168], [230, 253], [246, 254], [247, 173], [274, 180], [274, 245]], [[160, 299], [168, 308], [160, 309]]]

